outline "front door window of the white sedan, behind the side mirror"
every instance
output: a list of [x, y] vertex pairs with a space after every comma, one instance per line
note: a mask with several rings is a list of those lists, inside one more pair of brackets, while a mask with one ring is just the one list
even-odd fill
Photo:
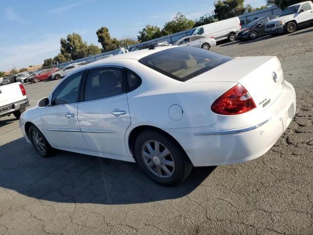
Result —
[[65, 79], [52, 94], [51, 105], [75, 103], [78, 100], [79, 84], [84, 71], [75, 73]]

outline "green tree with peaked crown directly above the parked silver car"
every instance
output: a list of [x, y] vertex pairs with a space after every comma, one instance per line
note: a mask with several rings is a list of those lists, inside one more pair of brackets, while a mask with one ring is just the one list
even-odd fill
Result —
[[172, 21], [166, 22], [162, 29], [163, 35], [181, 32], [190, 28], [193, 28], [194, 21], [188, 20], [180, 12], [176, 14]]

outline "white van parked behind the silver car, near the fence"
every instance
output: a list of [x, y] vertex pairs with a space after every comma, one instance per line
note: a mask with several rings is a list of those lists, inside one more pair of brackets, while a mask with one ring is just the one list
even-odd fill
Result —
[[207, 35], [214, 36], [215, 40], [222, 41], [228, 39], [230, 42], [235, 41], [236, 33], [241, 29], [238, 17], [230, 18], [223, 21], [204, 24], [191, 30], [189, 35]]

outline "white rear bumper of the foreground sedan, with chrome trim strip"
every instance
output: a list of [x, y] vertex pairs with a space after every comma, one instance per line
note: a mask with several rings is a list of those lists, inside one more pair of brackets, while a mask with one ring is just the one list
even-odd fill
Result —
[[[284, 81], [282, 93], [265, 111], [267, 118], [255, 125], [234, 130], [197, 127], [164, 131], [180, 143], [194, 166], [246, 162], [265, 154], [281, 137], [295, 115], [295, 98], [292, 85]], [[219, 121], [216, 128], [218, 125]]]

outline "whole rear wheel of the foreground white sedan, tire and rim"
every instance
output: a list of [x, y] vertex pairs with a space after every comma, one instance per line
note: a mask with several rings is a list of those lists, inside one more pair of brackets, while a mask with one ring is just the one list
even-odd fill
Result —
[[134, 153], [140, 168], [163, 186], [179, 185], [193, 168], [181, 146], [156, 131], [142, 132], [135, 141]]

